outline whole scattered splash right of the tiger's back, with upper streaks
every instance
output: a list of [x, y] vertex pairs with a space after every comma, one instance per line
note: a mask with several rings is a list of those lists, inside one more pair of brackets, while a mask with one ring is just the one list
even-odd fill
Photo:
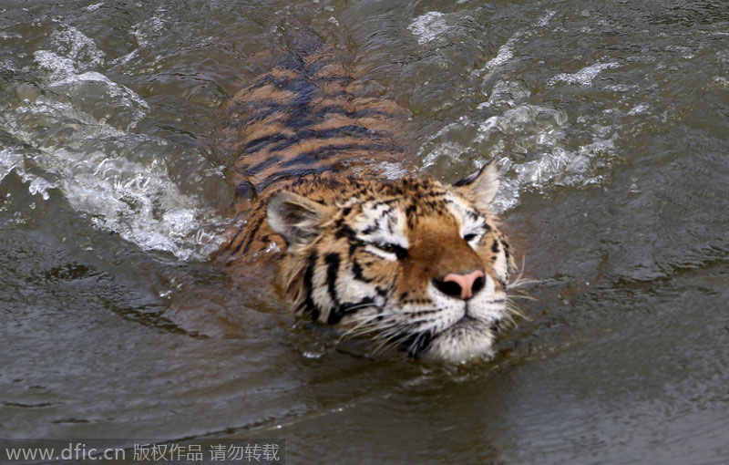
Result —
[[[522, 58], [519, 47], [539, 36], [554, 15], [554, 11], [547, 11], [533, 24], [516, 30], [498, 47], [495, 57], [471, 73], [485, 100], [438, 130], [417, 153], [421, 170], [456, 171], [459, 175], [468, 174], [474, 165], [482, 166], [486, 160], [497, 160], [502, 173], [494, 202], [497, 212], [517, 206], [524, 191], [599, 183], [599, 168], [617, 156], [619, 126], [570, 121], [565, 110], [536, 100], [532, 89], [505, 71], [506, 65]], [[597, 63], [575, 73], [560, 73], [547, 85], [590, 86], [601, 71], [618, 66], [614, 62]], [[636, 107], [633, 113], [643, 110]]]

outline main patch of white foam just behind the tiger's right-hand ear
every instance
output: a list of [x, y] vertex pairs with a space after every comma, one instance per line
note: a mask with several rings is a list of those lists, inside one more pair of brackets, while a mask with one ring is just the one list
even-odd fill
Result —
[[[514, 89], [518, 99], [528, 97], [519, 86], [505, 83], [501, 89]], [[466, 172], [469, 168], [459, 165], [465, 162], [464, 154], [474, 151], [481, 154], [481, 158], [474, 160], [476, 167], [486, 160], [497, 160], [502, 181], [493, 204], [496, 212], [514, 208], [525, 190], [543, 191], [549, 186], [583, 186], [601, 181], [601, 176], [593, 171], [616, 156], [614, 141], [619, 128], [591, 124], [592, 140], [570, 146], [570, 120], [563, 110], [546, 104], [517, 103], [510, 98], [500, 100], [502, 97], [499, 101], [506, 105], [477, 110], [477, 114], [486, 111], [483, 119], [464, 116], [436, 132], [419, 150], [421, 169], [458, 166]], [[489, 116], [493, 109], [502, 113]], [[574, 122], [572, 126], [588, 122]], [[464, 136], [470, 141], [463, 141]]]

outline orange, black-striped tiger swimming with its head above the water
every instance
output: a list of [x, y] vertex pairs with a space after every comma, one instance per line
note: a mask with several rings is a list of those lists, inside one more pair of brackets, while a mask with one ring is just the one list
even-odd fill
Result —
[[293, 312], [373, 352], [488, 360], [513, 320], [497, 165], [453, 184], [393, 174], [412, 172], [396, 142], [412, 115], [353, 75], [339, 49], [298, 47], [224, 106], [236, 221], [214, 261], [241, 280], [273, 263]]

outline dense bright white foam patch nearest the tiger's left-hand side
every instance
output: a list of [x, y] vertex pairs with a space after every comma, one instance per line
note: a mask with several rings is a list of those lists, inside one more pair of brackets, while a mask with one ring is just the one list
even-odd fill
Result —
[[216, 222], [214, 212], [181, 192], [163, 162], [148, 165], [102, 152], [84, 153], [84, 160], [66, 150], [54, 155], [75, 159], [63, 173], [61, 189], [98, 227], [181, 260], [203, 258], [217, 249], [220, 236], [208, 226]]

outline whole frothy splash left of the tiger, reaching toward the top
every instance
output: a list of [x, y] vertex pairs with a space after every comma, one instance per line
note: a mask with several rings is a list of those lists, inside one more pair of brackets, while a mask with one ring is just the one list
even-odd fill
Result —
[[9, 135], [0, 181], [15, 171], [43, 199], [57, 189], [99, 229], [145, 250], [180, 260], [216, 250], [221, 218], [202, 192], [224, 183], [221, 171], [196, 148], [134, 132], [149, 104], [103, 73], [106, 56], [83, 33], [62, 26], [49, 46], [33, 55], [37, 91], [19, 91], [0, 114]]

